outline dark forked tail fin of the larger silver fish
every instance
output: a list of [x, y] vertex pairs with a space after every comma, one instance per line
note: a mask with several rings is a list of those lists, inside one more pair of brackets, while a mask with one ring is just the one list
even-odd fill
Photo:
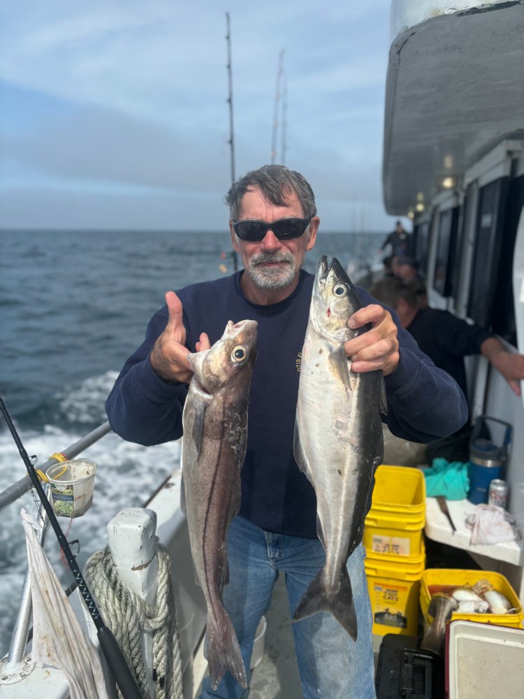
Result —
[[328, 589], [324, 571], [325, 568], [322, 568], [307, 588], [293, 614], [293, 621], [312, 617], [317, 612], [330, 612], [340, 626], [356, 641], [356, 610], [347, 568], [342, 568], [336, 590]]

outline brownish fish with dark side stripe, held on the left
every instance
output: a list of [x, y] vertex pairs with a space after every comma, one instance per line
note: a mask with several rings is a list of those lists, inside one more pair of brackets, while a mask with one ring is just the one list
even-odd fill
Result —
[[189, 355], [194, 375], [182, 416], [182, 493], [196, 581], [208, 606], [206, 639], [213, 688], [224, 672], [247, 687], [240, 647], [224, 604], [229, 582], [226, 540], [240, 509], [240, 469], [256, 359], [257, 323], [229, 321], [211, 349]]

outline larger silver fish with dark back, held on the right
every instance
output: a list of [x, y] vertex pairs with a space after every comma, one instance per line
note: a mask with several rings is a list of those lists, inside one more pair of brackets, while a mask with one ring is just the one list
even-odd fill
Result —
[[383, 459], [380, 371], [354, 373], [344, 342], [366, 332], [348, 318], [362, 307], [353, 284], [323, 256], [313, 283], [300, 365], [293, 452], [316, 491], [316, 529], [326, 564], [310, 584], [293, 621], [330, 612], [356, 640], [357, 621], [347, 559], [361, 542], [374, 469]]

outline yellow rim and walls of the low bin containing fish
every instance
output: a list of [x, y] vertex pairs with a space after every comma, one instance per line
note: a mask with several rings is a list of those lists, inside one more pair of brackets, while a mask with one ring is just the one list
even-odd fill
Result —
[[479, 621], [482, 624], [496, 624], [497, 626], [513, 626], [522, 628], [524, 626], [524, 613], [514, 589], [511, 587], [504, 575], [491, 570], [455, 570], [446, 568], [428, 568], [425, 570], [421, 581], [421, 610], [424, 617], [424, 628], [433, 621], [433, 618], [428, 614], [430, 605], [431, 592], [433, 587], [438, 587], [439, 590], [446, 591], [446, 588], [451, 587], [472, 587], [479, 580], [488, 580], [493, 585], [495, 590], [504, 595], [515, 607], [517, 612], [514, 614], [459, 614], [453, 612], [451, 621], [455, 619], [463, 619], [467, 621]]

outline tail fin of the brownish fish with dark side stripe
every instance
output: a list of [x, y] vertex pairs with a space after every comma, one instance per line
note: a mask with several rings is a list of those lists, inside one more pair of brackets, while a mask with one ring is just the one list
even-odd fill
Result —
[[208, 668], [213, 690], [217, 689], [226, 670], [247, 689], [247, 675], [240, 646], [226, 612], [216, 624], [210, 624], [208, 619], [207, 636]]

